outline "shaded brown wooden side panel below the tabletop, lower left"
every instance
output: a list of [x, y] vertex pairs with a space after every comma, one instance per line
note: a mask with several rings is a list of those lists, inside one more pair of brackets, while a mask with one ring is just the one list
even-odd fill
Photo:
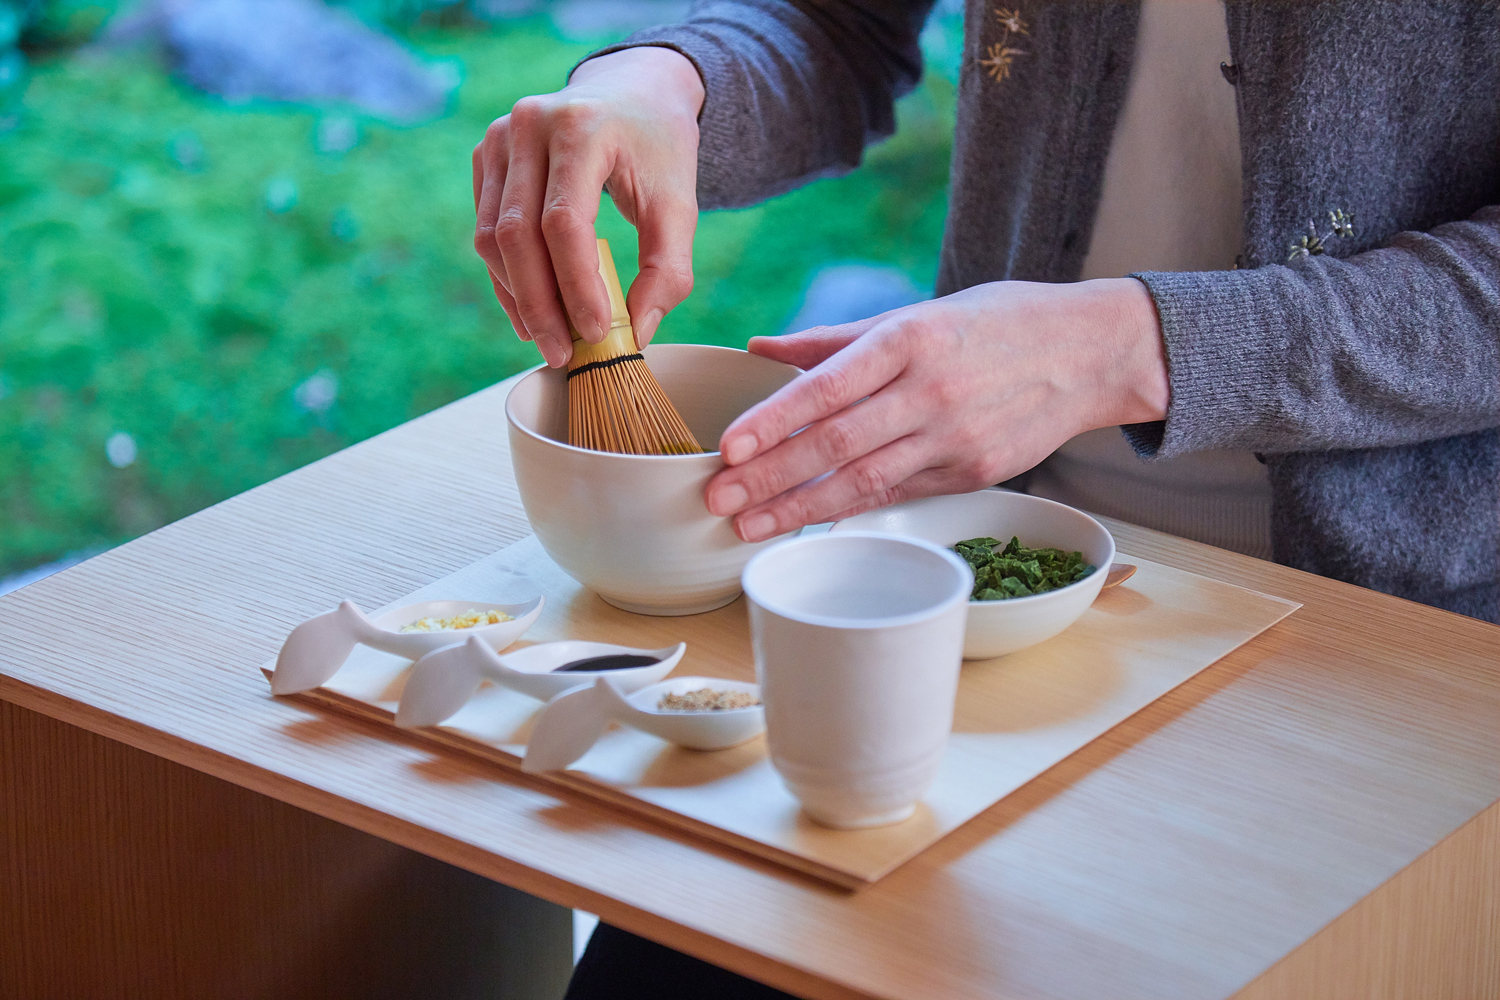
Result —
[[561, 1000], [573, 913], [0, 702], [0, 997]]

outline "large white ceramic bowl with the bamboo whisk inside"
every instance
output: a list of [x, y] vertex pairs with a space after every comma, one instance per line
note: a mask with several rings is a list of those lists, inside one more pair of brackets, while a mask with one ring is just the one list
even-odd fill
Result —
[[[705, 448], [746, 409], [801, 372], [732, 348], [645, 349], [662, 388]], [[723, 462], [567, 444], [567, 373], [537, 369], [506, 400], [520, 502], [542, 547], [574, 580], [639, 615], [696, 615], [740, 595], [740, 571], [774, 540], [746, 544], [704, 507]]]

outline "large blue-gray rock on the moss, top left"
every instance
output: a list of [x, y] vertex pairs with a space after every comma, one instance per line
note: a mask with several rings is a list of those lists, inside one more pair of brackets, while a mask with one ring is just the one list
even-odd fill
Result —
[[318, 0], [147, 0], [108, 40], [154, 42], [183, 79], [232, 102], [350, 103], [410, 123], [441, 112], [456, 85], [446, 66]]

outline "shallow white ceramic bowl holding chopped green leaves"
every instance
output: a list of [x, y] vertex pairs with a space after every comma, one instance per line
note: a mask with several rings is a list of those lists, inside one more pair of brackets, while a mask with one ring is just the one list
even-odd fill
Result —
[[939, 546], [982, 535], [1010, 541], [1014, 535], [1029, 549], [1082, 552], [1096, 567], [1077, 583], [1047, 594], [969, 601], [964, 660], [1002, 657], [1052, 639], [1089, 609], [1114, 561], [1114, 538], [1100, 522], [1065, 504], [1008, 490], [928, 496], [856, 514], [832, 531], [882, 531]]

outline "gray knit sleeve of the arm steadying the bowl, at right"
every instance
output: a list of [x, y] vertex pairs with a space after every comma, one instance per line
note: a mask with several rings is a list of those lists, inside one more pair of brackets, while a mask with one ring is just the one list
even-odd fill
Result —
[[1500, 426], [1500, 207], [1347, 259], [1136, 274], [1166, 337], [1144, 456], [1396, 447]]

